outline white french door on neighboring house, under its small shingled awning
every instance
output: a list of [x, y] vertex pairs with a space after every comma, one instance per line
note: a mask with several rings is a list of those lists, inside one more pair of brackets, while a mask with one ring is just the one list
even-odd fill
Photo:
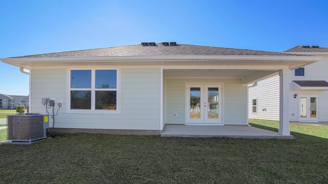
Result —
[[299, 117], [301, 121], [318, 121], [318, 96], [299, 97]]

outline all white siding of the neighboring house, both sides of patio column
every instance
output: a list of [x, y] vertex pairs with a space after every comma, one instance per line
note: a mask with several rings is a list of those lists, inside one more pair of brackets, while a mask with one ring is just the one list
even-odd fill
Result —
[[[293, 90], [293, 80], [325, 80], [328, 81], [328, 57], [304, 67], [305, 76], [294, 76], [291, 71], [290, 91], [290, 121], [298, 121], [299, 96], [318, 96], [318, 120], [328, 121], [328, 91], [327, 90]], [[294, 95], [297, 94], [297, 98]], [[258, 113], [252, 114], [251, 99], [258, 98]], [[258, 82], [255, 87], [249, 88], [249, 118], [279, 121], [279, 76], [274, 76]], [[267, 111], [263, 111], [265, 109]]]

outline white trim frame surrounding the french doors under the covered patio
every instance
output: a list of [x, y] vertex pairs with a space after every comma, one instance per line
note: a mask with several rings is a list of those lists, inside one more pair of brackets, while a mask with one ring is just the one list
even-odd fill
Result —
[[[187, 123], [187, 117], [189, 116], [189, 108], [187, 108], [187, 97], [189, 97], [187, 85], [200, 84], [200, 85], [221, 85], [221, 123]], [[185, 82], [185, 125], [224, 125], [224, 82]]]

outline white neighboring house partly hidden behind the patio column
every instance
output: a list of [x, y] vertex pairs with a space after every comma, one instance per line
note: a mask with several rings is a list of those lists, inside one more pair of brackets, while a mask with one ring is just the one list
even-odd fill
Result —
[[[328, 48], [296, 46], [284, 53], [323, 57], [291, 71], [289, 120], [328, 122]], [[249, 88], [249, 117], [279, 120], [279, 76]]]

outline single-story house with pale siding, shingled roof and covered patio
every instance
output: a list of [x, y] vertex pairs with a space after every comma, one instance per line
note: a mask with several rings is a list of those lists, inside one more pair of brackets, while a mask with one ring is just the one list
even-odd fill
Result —
[[280, 113], [279, 134], [290, 135], [289, 108], [284, 108], [290, 98], [290, 71], [320, 59], [143, 42], [1, 61], [19, 66], [23, 73], [27, 73], [24, 68], [29, 70], [30, 112], [45, 113], [42, 98], [55, 99], [55, 111], [58, 103], [63, 106], [54, 126], [57, 131], [71, 132], [160, 134], [171, 124], [238, 129], [229, 125], [248, 125], [248, 84], [279, 72], [280, 112], [285, 112]]

